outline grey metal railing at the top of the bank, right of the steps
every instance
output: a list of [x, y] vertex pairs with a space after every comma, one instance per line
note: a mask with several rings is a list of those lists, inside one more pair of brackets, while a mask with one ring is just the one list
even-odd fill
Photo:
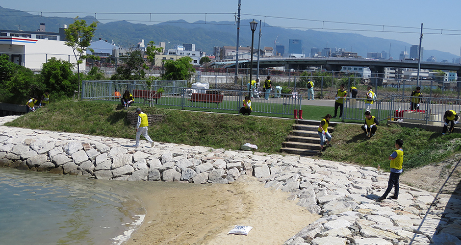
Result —
[[[412, 98], [420, 99], [418, 106], [410, 110]], [[345, 98], [343, 119], [365, 120], [367, 99]], [[442, 125], [446, 111], [461, 111], [461, 99], [410, 97], [393, 95], [382, 99], [375, 99], [371, 107], [371, 114], [379, 121], [402, 120], [409, 123]]]

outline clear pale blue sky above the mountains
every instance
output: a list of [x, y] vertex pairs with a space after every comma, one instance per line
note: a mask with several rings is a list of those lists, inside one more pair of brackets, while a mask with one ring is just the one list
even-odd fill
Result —
[[[154, 25], [179, 19], [190, 23], [234, 22], [238, 0], [138, 0], [130, 3], [126, 0], [16, 0], [5, 1], [0, 6], [31, 14], [42, 12], [43, 16], [92, 15], [102, 23], [126, 20]], [[460, 0], [241, 0], [241, 19], [262, 20], [268, 25], [302, 30], [358, 33], [411, 45], [419, 45], [423, 24], [421, 46], [424, 49], [455, 55], [461, 53], [460, 10]], [[262, 28], [264, 36], [264, 26]], [[337, 48], [351, 51], [348, 47]]]

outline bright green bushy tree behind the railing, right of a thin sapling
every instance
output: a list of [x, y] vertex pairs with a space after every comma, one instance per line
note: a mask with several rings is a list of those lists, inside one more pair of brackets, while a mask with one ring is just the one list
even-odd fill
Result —
[[167, 60], [164, 64], [165, 73], [162, 75], [164, 80], [189, 80], [195, 72], [191, 64], [192, 58], [189, 56], [181, 57], [177, 60]]

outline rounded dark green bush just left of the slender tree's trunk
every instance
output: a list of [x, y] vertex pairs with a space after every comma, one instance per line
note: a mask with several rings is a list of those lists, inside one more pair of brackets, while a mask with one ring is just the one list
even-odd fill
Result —
[[44, 63], [40, 72], [43, 84], [50, 89], [54, 98], [70, 97], [77, 89], [79, 78], [76, 79], [70, 62], [52, 57]]

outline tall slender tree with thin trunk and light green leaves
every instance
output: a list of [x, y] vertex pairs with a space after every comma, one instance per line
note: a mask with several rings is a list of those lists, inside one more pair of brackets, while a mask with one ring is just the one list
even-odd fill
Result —
[[[90, 25], [86, 24], [85, 20], [78, 20], [78, 16], [74, 19], [74, 23], [65, 29], [66, 46], [69, 46], [74, 51], [75, 59], [77, 60], [77, 74], [78, 74], [78, 94], [80, 95], [80, 64], [87, 58], [98, 59], [94, 55], [86, 54], [86, 50], [94, 52], [89, 49], [90, 42], [95, 35], [97, 23], [93, 22]], [[80, 97], [80, 96], [78, 96]]]

